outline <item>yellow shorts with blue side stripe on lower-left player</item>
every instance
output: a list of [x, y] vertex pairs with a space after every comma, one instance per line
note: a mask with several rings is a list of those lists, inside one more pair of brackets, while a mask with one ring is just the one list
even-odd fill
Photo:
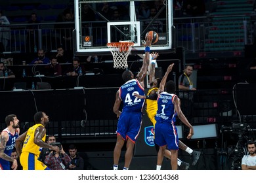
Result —
[[30, 152], [22, 152], [20, 155], [20, 164], [23, 170], [49, 170], [47, 165], [37, 159], [35, 154]]

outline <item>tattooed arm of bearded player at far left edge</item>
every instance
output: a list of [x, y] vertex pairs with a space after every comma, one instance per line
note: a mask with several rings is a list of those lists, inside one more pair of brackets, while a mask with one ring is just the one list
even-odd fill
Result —
[[9, 135], [5, 131], [3, 131], [0, 135], [0, 158], [5, 159], [6, 161], [12, 161], [12, 169], [16, 170], [18, 167], [17, 160], [11, 158], [7, 154], [5, 154], [5, 146], [7, 141], [9, 140]]

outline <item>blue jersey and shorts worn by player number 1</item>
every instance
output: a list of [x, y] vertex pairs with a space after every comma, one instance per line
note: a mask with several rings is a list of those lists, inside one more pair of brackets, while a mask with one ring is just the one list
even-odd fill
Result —
[[159, 146], [167, 145], [169, 150], [179, 149], [179, 137], [175, 126], [177, 113], [173, 101], [177, 95], [163, 92], [158, 96], [156, 113], [155, 142]]

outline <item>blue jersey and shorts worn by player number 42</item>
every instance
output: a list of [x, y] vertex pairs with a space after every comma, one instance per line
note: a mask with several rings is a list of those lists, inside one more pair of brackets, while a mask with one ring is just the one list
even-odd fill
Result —
[[123, 110], [117, 124], [117, 135], [135, 142], [142, 122], [144, 99], [135, 97], [135, 93], [144, 95], [144, 88], [137, 79], [127, 81], [119, 88], [119, 97], [123, 102]]

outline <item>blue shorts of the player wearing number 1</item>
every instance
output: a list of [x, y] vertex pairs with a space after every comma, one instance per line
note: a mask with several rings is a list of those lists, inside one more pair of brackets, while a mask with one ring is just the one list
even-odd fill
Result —
[[177, 127], [169, 123], [157, 122], [155, 126], [155, 142], [158, 146], [165, 146], [169, 150], [179, 150]]

